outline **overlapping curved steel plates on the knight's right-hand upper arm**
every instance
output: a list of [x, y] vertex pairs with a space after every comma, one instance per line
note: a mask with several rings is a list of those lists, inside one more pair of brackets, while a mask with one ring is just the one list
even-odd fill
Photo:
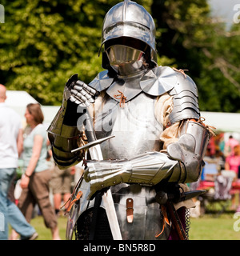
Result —
[[170, 123], [182, 121], [183, 119], [200, 117], [198, 108], [198, 88], [192, 78], [186, 77], [178, 72], [177, 84], [169, 92], [173, 96], [174, 109], [170, 113]]

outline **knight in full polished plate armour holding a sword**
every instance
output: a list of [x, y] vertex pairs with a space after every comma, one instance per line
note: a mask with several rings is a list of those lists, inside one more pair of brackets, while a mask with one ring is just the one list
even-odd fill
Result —
[[[154, 20], [136, 2], [107, 12], [101, 51], [104, 71], [89, 84], [78, 74], [66, 82], [48, 128], [59, 168], [85, 165], [68, 204], [66, 238], [118, 239], [115, 222], [124, 240], [178, 239], [167, 202], [186, 231], [194, 202], [182, 194], [198, 181], [210, 138], [198, 88], [182, 70], [158, 66]], [[107, 191], [114, 210], [103, 200]]]

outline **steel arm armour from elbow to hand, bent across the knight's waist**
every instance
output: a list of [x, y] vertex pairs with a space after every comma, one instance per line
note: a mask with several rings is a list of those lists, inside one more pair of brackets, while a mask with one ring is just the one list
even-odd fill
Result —
[[144, 186], [154, 186], [162, 180], [196, 182], [204, 164], [202, 157], [209, 132], [198, 122], [186, 122], [183, 130], [186, 133], [178, 142], [167, 147], [168, 154], [147, 152], [126, 160], [88, 162], [84, 178], [90, 182], [90, 197], [102, 188], [122, 182]]

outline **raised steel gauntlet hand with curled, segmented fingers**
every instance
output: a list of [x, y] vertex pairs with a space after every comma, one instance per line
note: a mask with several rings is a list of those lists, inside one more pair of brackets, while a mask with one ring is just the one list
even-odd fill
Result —
[[82, 107], [90, 106], [95, 102], [97, 91], [86, 85], [85, 82], [78, 80], [78, 74], [74, 74], [67, 82], [64, 88], [63, 98], [67, 101], [76, 103]]

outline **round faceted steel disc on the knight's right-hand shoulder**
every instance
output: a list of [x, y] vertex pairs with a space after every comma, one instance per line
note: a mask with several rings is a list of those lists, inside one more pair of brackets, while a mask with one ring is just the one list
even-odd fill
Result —
[[147, 72], [140, 81], [141, 89], [152, 96], [160, 96], [177, 84], [177, 74], [169, 66], [158, 66]]

